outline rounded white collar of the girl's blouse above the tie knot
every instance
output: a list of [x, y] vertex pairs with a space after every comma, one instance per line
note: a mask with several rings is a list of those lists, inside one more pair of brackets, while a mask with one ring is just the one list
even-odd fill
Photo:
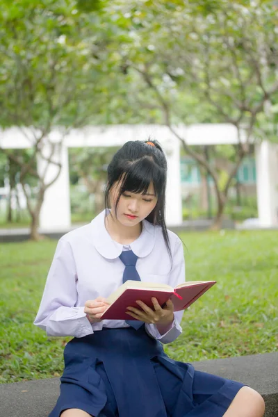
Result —
[[[101, 256], [104, 256], [106, 259], [115, 259], [122, 253], [123, 245], [115, 242], [110, 234], [108, 234], [104, 223], [105, 215], [106, 210], [99, 213], [92, 220], [92, 239], [97, 252]], [[155, 230], [154, 224], [149, 223], [147, 220], [142, 221], [142, 232], [140, 236], [134, 242], [130, 243], [131, 250], [133, 250], [138, 258], [144, 258], [152, 252], [154, 248]]]

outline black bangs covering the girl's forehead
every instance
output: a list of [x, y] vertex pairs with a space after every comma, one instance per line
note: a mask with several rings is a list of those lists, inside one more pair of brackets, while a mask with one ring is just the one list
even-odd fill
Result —
[[153, 183], [154, 193], [158, 197], [163, 193], [164, 177], [161, 168], [151, 158], [142, 158], [129, 165], [129, 169], [124, 172], [120, 194], [125, 191], [147, 194], [150, 184]]

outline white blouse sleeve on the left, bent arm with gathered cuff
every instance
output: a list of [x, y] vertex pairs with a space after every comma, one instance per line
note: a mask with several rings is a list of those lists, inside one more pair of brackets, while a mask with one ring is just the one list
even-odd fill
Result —
[[91, 324], [84, 306], [76, 307], [76, 265], [70, 243], [61, 238], [51, 263], [40, 308], [34, 325], [48, 336], [83, 337], [102, 329], [102, 322]]

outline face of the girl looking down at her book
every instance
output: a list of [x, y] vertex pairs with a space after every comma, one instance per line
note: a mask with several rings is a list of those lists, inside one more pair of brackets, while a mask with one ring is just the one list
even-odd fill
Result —
[[[115, 215], [115, 204], [119, 195], [121, 181], [115, 183], [111, 190], [111, 211]], [[157, 197], [154, 194], [153, 183], [149, 184], [146, 194], [130, 193], [125, 191], [117, 205], [117, 220], [124, 226], [135, 226], [142, 222], [149, 213], [152, 213], [157, 203]]]

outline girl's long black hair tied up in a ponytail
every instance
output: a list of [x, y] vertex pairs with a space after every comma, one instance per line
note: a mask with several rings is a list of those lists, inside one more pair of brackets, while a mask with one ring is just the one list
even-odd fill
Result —
[[[149, 145], [151, 142], [153, 145]], [[117, 196], [115, 211], [120, 197], [126, 191], [129, 193], [147, 193], [149, 184], [154, 184], [154, 193], [158, 198], [152, 213], [146, 220], [158, 224], [162, 228], [167, 251], [172, 259], [169, 236], [165, 224], [165, 190], [167, 179], [167, 161], [161, 145], [157, 140], [134, 140], [126, 142], [113, 156], [107, 168], [108, 182], [105, 190], [105, 206], [109, 206], [109, 194], [115, 182], [122, 179], [119, 195]]]

